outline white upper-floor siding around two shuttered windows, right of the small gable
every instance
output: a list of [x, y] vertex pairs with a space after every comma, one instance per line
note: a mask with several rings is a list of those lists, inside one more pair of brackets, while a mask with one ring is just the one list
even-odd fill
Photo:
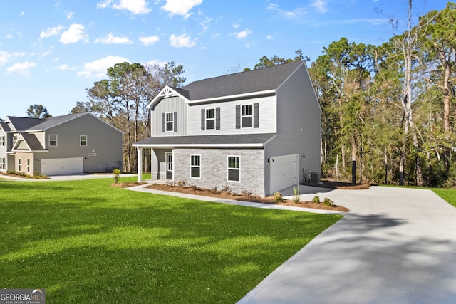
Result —
[[[259, 127], [236, 128], [236, 106], [259, 104]], [[220, 108], [220, 129], [201, 130], [201, 110]], [[223, 101], [188, 108], [188, 135], [260, 134], [276, 132], [276, 96]], [[161, 129], [160, 129], [161, 130]]]

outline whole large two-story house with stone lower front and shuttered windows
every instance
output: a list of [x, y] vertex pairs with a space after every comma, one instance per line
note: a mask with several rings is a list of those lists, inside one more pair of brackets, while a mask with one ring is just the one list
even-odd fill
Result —
[[321, 108], [306, 68], [293, 62], [165, 87], [147, 105], [152, 179], [269, 196], [319, 181]]

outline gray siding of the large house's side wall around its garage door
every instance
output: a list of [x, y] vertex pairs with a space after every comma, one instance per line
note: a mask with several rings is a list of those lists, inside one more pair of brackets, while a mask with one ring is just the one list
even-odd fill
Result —
[[[265, 158], [304, 154], [299, 159], [299, 181], [304, 172], [321, 171], [321, 108], [305, 65], [296, 70], [277, 90], [277, 137], [265, 148]], [[266, 194], [269, 166], [265, 166]]]

